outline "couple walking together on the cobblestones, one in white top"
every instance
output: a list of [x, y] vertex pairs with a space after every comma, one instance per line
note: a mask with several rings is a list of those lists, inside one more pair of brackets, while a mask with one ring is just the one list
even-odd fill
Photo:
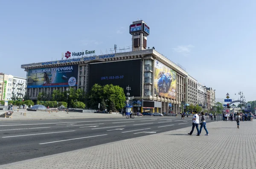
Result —
[[201, 112], [201, 115], [202, 115], [202, 118], [201, 118], [201, 123], [200, 123], [200, 125], [201, 125], [200, 126], [200, 131], [199, 131], [199, 128], [198, 128], [198, 126], [199, 126], [199, 116], [198, 116], [197, 112], [195, 111], [195, 115], [193, 116], [193, 123], [192, 123], [193, 126], [192, 126], [191, 132], [188, 133], [189, 135], [192, 135], [192, 133], [194, 132], [195, 127], [197, 129], [197, 132], [198, 132], [197, 135], [198, 136], [201, 134], [201, 131], [202, 131], [203, 127], [206, 131], [206, 135], [209, 135], [209, 133], [206, 129], [206, 121], [205, 121], [204, 112]]

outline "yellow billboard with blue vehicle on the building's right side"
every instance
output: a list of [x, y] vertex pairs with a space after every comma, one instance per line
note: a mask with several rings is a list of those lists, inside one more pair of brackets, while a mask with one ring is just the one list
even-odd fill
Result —
[[176, 98], [176, 72], [169, 67], [155, 61], [154, 92], [156, 95]]

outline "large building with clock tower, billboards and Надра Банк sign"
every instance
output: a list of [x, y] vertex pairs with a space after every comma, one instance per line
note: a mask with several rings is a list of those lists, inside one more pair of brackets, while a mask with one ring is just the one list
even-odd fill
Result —
[[[39, 92], [52, 94], [70, 87], [88, 92], [97, 83], [118, 85], [125, 93], [129, 86], [134, 112], [179, 113], [183, 105], [197, 104], [197, 81], [154, 48], [147, 49], [146, 23], [134, 22], [130, 34], [131, 52], [67, 51], [67, 59], [21, 65], [26, 71], [27, 94], [36, 101]], [[70, 59], [71, 55], [77, 58]]]

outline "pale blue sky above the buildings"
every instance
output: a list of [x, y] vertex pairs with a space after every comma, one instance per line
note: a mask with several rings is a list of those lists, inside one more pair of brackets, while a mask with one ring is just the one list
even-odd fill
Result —
[[21, 64], [131, 46], [129, 25], [150, 27], [148, 46], [181, 64], [216, 98], [256, 100], [255, 0], [1, 0], [0, 72], [26, 77]]

